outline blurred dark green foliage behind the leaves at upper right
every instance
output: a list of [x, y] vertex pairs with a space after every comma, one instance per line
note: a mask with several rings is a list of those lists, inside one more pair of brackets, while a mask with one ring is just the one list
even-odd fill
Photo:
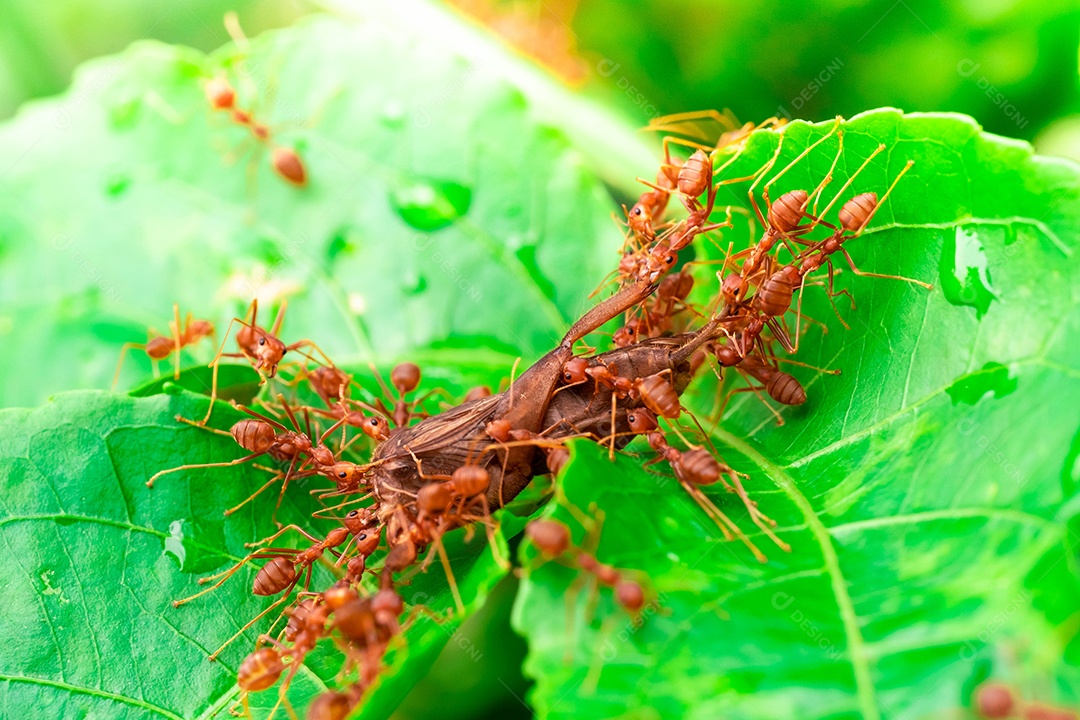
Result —
[[964, 112], [1030, 138], [1080, 109], [1080, 14], [1069, 0], [600, 0], [562, 16], [596, 90], [643, 121], [704, 108], [759, 122], [895, 106]]

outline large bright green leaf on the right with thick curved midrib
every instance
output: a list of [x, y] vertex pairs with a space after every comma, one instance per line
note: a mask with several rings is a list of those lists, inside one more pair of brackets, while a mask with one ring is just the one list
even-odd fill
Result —
[[[829, 125], [788, 126], [773, 172]], [[798, 358], [842, 375], [788, 368], [809, 400], [784, 409], [785, 424], [742, 394], [713, 430], [792, 545], [772, 545], [734, 495], [711, 489], [767, 565], [723, 542], [670, 476], [576, 447], [570, 502], [606, 513], [600, 559], [647, 574], [659, 607], [636, 627], [609, 593], [586, 617], [583, 593], [568, 628], [577, 574], [532, 571], [515, 627], [541, 717], [959, 717], [987, 677], [1080, 702], [1080, 172], [957, 116], [881, 110], [843, 130], [826, 199], [878, 142], [845, 199], [880, 194], [915, 161], [847, 244], [854, 261], [934, 289], [854, 276], [840, 258], [837, 289], [858, 302], [837, 298], [850, 329], [808, 287], [802, 310], [827, 332], [812, 325]], [[756, 134], [725, 177], [760, 167], [777, 139]], [[771, 196], [815, 186], [836, 147], [796, 164]], [[729, 187], [721, 202], [745, 202], [744, 185]], [[735, 226], [724, 245], [745, 247]], [[707, 375], [686, 403], [713, 427]]]

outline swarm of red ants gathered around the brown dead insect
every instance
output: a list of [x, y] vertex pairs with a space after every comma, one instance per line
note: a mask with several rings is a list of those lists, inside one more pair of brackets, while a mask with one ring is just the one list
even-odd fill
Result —
[[[235, 107], [234, 95], [227, 85], [208, 83], [207, 96], [213, 107], [231, 112], [237, 122], [252, 126], [258, 137], [257, 123]], [[726, 117], [717, 113], [684, 113], [665, 118], [656, 123], [656, 127], [678, 128], [701, 118], [727, 122]], [[773, 132], [780, 135], [770, 160], [748, 177], [724, 177], [725, 171], [745, 148], [751, 132], [770, 123], [777, 125]], [[322, 538], [297, 525], [281, 527], [279, 524], [278, 532], [252, 543], [249, 546], [255, 549], [240, 562], [199, 581], [210, 587], [173, 603], [178, 607], [190, 602], [220, 586], [248, 563], [265, 560], [255, 575], [252, 590], [255, 595], [280, 595], [280, 598], [225, 644], [275, 609], [282, 610], [273, 628], [259, 636], [255, 650], [239, 667], [240, 699], [233, 708], [234, 715], [241, 711], [249, 715], [247, 694], [269, 689], [284, 676], [278, 703], [284, 705], [291, 717], [296, 717], [286, 698], [289, 682], [305, 656], [320, 641], [329, 638], [346, 657], [340, 682], [343, 689], [319, 695], [309, 706], [308, 718], [338, 720], [347, 717], [377, 682], [388, 650], [403, 641], [403, 628], [419, 611], [431, 613], [417, 606], [404, 619], [406, 607], [399, 594], [400, 585], [437, 558], [447, 573], [457, 609], [462, 611], [444, 535], [464, 528], [467, 536], [471, 538], [474, 528], [483, 526], [492, 541], [496, 559], [505, 563], [504, 558], [498, 557], [494, 542], [496, 511], [519, 491], [519, 487], [514, 486], [517, 479], [521, 479], [517, 485], [524, 487], [535, 475], [557, 476], [569, 459], [566, 441], [572, 437], [585, 437], [607, 446], [612, 456], [634, 437], [644, 437], [642, 450], [654, 454], [649, 462], [664, 461], [671, 466], [680, 487], [716, 522], [725, 540], [741, 541], [758, 560], [765, 560], [764, 553], [702, 491], [702, 487], [719, 484], [737, 494], [761, 533], [780, 548], [791, 549], [774, 533], [775, 522], [747, 495], [741, 474], [720, 459], [707, 433], [683, 407], [680, 394], [689, 380], [707, 366], [717, 377], [727, 370], [740, 373], [747, 384], [733, 392], [753, 392], [770, 409], [769, 399], [782, 406], [805, 403], [807, 394], [801, 383], [780, 367], [781, 363], [793, 361], [779, 356], [779, 350], [792, 353], [798, 348], [804, 318], [801, 298], [807, 285], [823, 286], [831, 301], [846, 295], [854, 307], [848, 290], [834, 287], [837, 271], [833, 263], [838, 256], [860, 275], [893, 277], [928, 289], [930, 285], [906, 277], [863, 272], [845, 247], [846, 242], [863, 233], [912, 162], [900, 171], [885, 196], [879, 199], [875, 192], [855, 194], [840, 204], [836, 220], [829, 221], [826, 218], [832, 208], [885, 146], [878, 146], [819, 212], [824, 190], [842, 153], [840, 119], [837, 118], [826, 134], [775, 174], [771, 173], [783, 148], [785, 128], [780, 122], [770, 123], [757, 126], [728, 124], [715, 142], [712, 138], [698, 141], [677, 133], [664, 138], [664, 158], [656, 180], [642, 180], [647, 186], [646, 191], [629, 210], [623, 208], [625, 243], [615, 272], [618, 277], [613, 295], [586, 312], [559, 348], [524, 376], [516, 380], [511, 377], [509, 389], [501, 393], [487, 386], [474, 388], [461, 404], [445, 405], [441, 411], [430, 412], [433, 393], [419, 395], [421, 372], [411, 363], [394, 367], [389, 385], [376, 371], [380, 391], [367, 393], [353, 375], [334, 365], [314, 342], [303, 339], [287, 343], [280, 339], [284, 302], [269, 328], [258, 324], [257, 301], [252, 303], [245, 317], [233, 318], [212, 363], [213, 384], [206, 415], [200, 419], [178, 417], [177, 420], [230, 435], [246, 454], [228, 462], [164, 470], [149, 478], [147, 485], [152, 487], [170, 473], [237, 465], [268, 457], [275, 467], [261, 470], [271, 472], [270, 479], [241, 505], [226, 511], [226, 515], [278, 483], [281, 484], [280, 507], [291, 483], [300, 478], [325, 478], [333, 487], [314, 491], [325, 507], [315, 516], [337, 524]], [[829, 171], [819, 185], [792, 190], [771, 200], [769, 191], [777, 180], [829, 138], [835, 138], [838, 147]], [[673, 152], [673, 146], [689, 146], [692, 154], [684, 159], [686, 153]], [[721, 158], [726, 158], [725, 162], [714, 166]], [[286, 161], [287, 158], [283, 160], [286, 168], [300, 168], [298, 175], [294, 175], [302, 181], [299, 159], [296, 158], [295, 163]], [[283, 176], [287, 179], [287, 175]], [[764, 212], [756, 196], [762, 180]], [[699, 242], [715, 244], [715, 231], [732, 227], [733, 208], [727, 208], [723, 221], [713, 221], [712, 216], [718, 191], [739, 182], [752, 182], [747, 194], [753, 214], [748, 221], [760, 228], [755, 232], [757, 240], [740, 252], [733, 252], [730, 246], [721, 248], [723, 263], [715, 261], [720, 266], [715, 272], [719, 290], [711, 294], [713, 300], [707, 303], [692, 302], [690, 296], [696, 276], [691, 273], [697, 269], [700, 275], [700, 269], [712, 261], [684, 258], [680, 263], [679, 254], [699, 237], [702, 239]], [[677, 220], [665, 219], [673, 200], [686, 212]], [[818, 239], [812, 240], [811, 233], [815, 230], [819, 230]], [[824, 277], [808, 282], [810, 275], [822, 268], [826, 270]], [[788, 315], [794, 316], [794, 330], [789, 327]], [[593, 348], [582, 351], [586, 335], [619, 318], [621, 327], [611, 335], [611, 351], [599, 354]], [[237, 350], [226, 352], [233, 328], [237, 328]], [[214, 327], [190, 314], [181, 324], [179, 310], [174, 308], [170, 329], [167, 335], [157, 335], [145, 344], [131, 347], [141, 349], [154, 362], [174, 356], [175, 376], [179, 378], [181, 349], [213, 335]], [[298, 359], [286, 362], [289, 353]], [[660, 353], [661, 365], [638, 362], [647, 353], [651, 353], [649, 357]], [[233, 403], [247, 417], [233, 424], [228, 433], [207, 424], [217, 400], [217, 369], [222, 358], [249, 363], [264, 383], [281, 391], [262, 392], [256, 400], [259, 409]], [[552, 363], [556, 364], [551, 372], [552, 384], [540, 393], [546, 396], [529, 396], [530, 392], [536, 392], [532, 389], [546, 385], [528, 378], [549, 372], [548, 366]], [[635, 367], [647, 367], [649, 371], [635, 375]], [[292, 400], [286, 399], [286, 392], [291, 393]], [[593, 430], [586, 430], [585, 423], [573, 420], [569, 410], [559, 409], [556, 416], [551, 416], [551, 408], [563, 394], [583, 398], [581, 403], [589, 407], [589, 417], [599, 417], [606, 422], [603, 425], [593, 423], [590, 425]], [[691, 418], [700, 433], [679, 425], [677, 421], [684, 416]], [[526, 417], [534, 420], [522, 420]], [[557, 417], [559, 422], [552, 422], [552, 417]], [[779, 413], [777, 418], [780, 420]], [[546, 422], [551, 425], [545, 426]], [[600, 426], [606, 429], [606, 435], [595, 430]], [[423, 447], [426, 440], [422, 438], [432, 434], [443, 436], [441, 445], [435, 446], [437, 452]], [[702, 439], [704, 445], [692, 441], [691, 437]], [[361, 448], [370, 448], [367, 462], [345, 459], [359, 459], [356, 453]], [[455, 448], [460, 452], [453, 460], [446, 460]], [[438, 464], [440, 460], [445, 461], [443, 465]], [[450, 463], [453, 470], [445, 463]], [[431, 465], [446, 472], [426, 472]], [[407, 471], [411, 480], [388, 485], [384, 474], [391, 467], [395, 473]], [[595, 535], [599, 512], [595, 507], [589, 512], [573, 507], [557, 484], [554, 487], [556, 501], [568, 506], [590, 530], [589, 534]], [[335, 504], [327, 507], [327, 500]], [[275, 546], [274, 542], [286, 533], [297, 533], [311, 544], [302, 548]], [[638, 617], [646, 608], [650, 594], [647, 583], [632, 570], [599, 561], [595, 552], [585, 547], [595, 546], [595, 536], [586, 538], [582, 546], [577, 546], [570, 528], [555, 519], [534, 519], [525, 533], [537, 551], [537, 561], [557, 561], [576, 568], [581, 573], [580, 583], [591, 582], [594, 592], [599, 587], [611, 588], [615, 601], [633, 617]], [[384, 554], [380, 553], [382, 548], [387, 551]], [[326, 557], [327, 554], [333, 560]], [[381, 563], [373, 562], [376, 556], [381, 556]], [[337, 578], [323, 592], [311, 588], [315, 565], [327, 567]], [[274, 629], [282, 620], [284, 626]], [[221, 649], [211, 655], [211, 660]], [[278, 705], [274, 707], [276, 709]]]

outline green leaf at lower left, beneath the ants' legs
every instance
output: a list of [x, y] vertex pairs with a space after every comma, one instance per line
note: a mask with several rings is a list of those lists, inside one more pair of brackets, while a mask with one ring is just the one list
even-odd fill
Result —
[[[198, 417], [206, 404], [188, 393], [136, 399], [80, 392], [37, 410], [0, 411], [0, 538], [14, 566], [4, 587], [10, 612], [0, 629], [19, 638], [0, 661], [5, 707], [48, 707], [55, 717], [193, 718], [237, 702], [237, 667], [269, 620], [229, 646], [218, 662], [206, 656], [270, 604], [252, 595], [254, 566], [210, 596], [179, 608], [171, 602], [201, 589], [199, 576], [246, 555], [244, 543], [274, 531], [276, 493], [226, 519], [227, 507], [265, 481], [251, 464], [165, 475], [153, 489], [146, 487], [159, 470], [242, 454], [231, 438], [174, 420]], [[222, 426], [241, 417], [215, 410]], [[307, 490], [286, 495], [279, 519], [318, 536], [334, 524], [311, 519], [320, 505]], [[510, 527], [516, 532], [521, 521]], [[461, 535], [448, 538], [447, 548], [472, 611], [504, 570], [484, 542], [465, 544]], [[295, 533], [291, 540], [297, 547], [308, 542]], [[315, 573], [313, 587], [333, 582], [325, 568]], [[413, 620], [364, 717], [388, 716], [462, 620], [438, 623], [414, 610], [423, 604], [445, 614], [453, 608], [437, 563], [402, 594]], [[289, 688], [299, 708], [335, 685], [343, 658], [323, 646]], [[266, 717], [276, 701], [276, 687], [253, 695], [255, 717]]]

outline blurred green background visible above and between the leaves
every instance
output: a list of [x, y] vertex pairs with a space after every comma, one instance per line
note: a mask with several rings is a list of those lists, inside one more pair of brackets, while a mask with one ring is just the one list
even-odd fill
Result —
[[[386, 0], [369, 0], [386, 1]], [[352, 2], [351, 6], [363, 6]], [[1068, 1], [454, 0], [584, 94], [645, 124], [728, 108], [740, 121], [821, 120], [880, 106], [951, 110], [1080, 159], [1080, 5]], [[0, 119], [62, 92], [76, 66], [152, 38], [203, 51], [316, 5], [299, 0], [0, 0]], [[525, 644], [504, 583], [397, 717], [529, 717]]]

